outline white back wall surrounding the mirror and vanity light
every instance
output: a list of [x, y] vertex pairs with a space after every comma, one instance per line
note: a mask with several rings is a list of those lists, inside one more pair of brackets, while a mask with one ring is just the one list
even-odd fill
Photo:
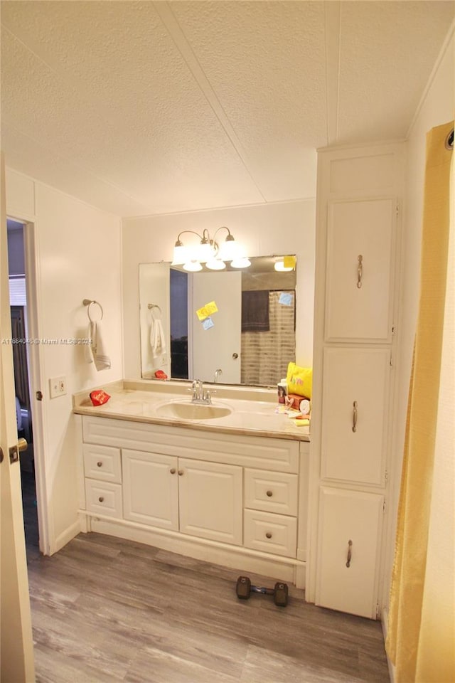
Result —
[[183, 230], [213, 235], [227, 226], [250, 256], [297, 255], [296, 362], [311, 366], [315, 256], [315, 201], [194, 211], [123, 220], [123, 295], [125, 377], [141, 376], [139, 342], [139, 263], [171, 261]]

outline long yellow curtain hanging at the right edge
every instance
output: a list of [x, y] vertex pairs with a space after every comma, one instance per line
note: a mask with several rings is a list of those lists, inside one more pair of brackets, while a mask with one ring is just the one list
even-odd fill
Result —
[[[452, 152], [445, 145], [453, 127], [451, 122], [427, 134], [419, 317], [386, 642], [395, 665], [395, 683], [455, 681], [454, 402], [448, 422], [444, 420], [447, 401], [439, 414], [440, 390], [453, 393], [453, 377], [447, 373], [453, 369], [453, 337], [448, 341], [448, 334], [451, 329], [453, 335], [454, 309], [453, 304], [446, 305], [451, 281], [448, 261], [453, 261], [449, 259]], [[448, 507], [442, 517], [437, 509], [441, 494]], [[437, 562], [433, 552], [439, 555]]]

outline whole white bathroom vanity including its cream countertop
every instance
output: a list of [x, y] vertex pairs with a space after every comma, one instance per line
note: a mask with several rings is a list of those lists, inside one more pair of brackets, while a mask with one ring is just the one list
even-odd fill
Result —
[[[305, 585], [309, 428], [277, 414], [276, 391], [188, 383], [105, 386], [80, 423], [82, 528]], [[183, 416], [182, 416], [183, 415]]]

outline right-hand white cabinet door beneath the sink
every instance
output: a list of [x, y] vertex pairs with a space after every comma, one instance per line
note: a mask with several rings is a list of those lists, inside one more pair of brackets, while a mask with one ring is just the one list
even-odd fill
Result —
[[180, 530], [242, 544], [242, 467], [178, 458]]

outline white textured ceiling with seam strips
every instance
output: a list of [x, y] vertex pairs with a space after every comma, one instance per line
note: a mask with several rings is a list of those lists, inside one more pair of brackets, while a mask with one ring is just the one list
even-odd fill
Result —
[[120, 216], [314, 197], [402, 139], [453, 1], [1, 3], [6, 164]]

